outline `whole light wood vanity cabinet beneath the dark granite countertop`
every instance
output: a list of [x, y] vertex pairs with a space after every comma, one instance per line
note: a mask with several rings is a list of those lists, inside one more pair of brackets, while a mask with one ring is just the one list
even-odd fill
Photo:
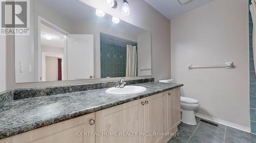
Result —
[[[95, 124], [90, 125], [90, 120]], [[154, 132], [177, 132], [179, 124], [180, 88], [176, 88], [2, 139], [0, 143], [166, 143], [172, 136]], [[88, 132], [97, 135], [86, 135]]]

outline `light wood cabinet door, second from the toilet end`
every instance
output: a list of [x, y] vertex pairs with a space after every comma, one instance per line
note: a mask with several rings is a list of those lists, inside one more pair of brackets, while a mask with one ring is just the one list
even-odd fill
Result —
[[167, 132], [166, 96], [165, 93], [144, 98], [147, 103], [144, 108], [144, 131], [150, 136], [144, 136], [145, 143], [162, 142], [164, 136], [155, 136], [154, 132]]

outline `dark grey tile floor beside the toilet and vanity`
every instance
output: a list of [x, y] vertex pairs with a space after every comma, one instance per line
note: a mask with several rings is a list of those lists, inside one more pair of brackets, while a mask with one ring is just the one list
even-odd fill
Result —
[[167, 143], [256, 143], [256, 135], [240, 131], [221, 124], [212, 126], [196, 118], [197, 125], [181, 123], [178, 126], [179, 136], [173, 137]]

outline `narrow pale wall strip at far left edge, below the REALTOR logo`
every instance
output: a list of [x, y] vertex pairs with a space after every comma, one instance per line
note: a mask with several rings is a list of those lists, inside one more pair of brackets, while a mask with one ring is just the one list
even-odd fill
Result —
[[0, 92], [6, 90], [6, 36], [0, 36]]

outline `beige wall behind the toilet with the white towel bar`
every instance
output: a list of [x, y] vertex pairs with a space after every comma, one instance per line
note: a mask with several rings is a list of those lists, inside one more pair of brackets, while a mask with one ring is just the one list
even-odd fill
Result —
[[[250, 127], [248, 1], [216, 0], [171, 20], [172, 78], [203, 115]], [[187, 66], [224, 64], [234, 69]]]

